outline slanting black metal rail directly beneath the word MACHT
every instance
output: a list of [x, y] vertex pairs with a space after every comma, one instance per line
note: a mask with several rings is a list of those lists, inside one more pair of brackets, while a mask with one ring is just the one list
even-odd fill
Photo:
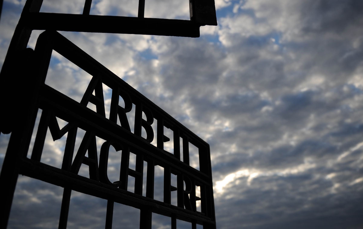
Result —
[[203, 222], [215, 224], [211, 218], [204, 216], [199, 212], [192, 212], [145, 196], [136, 195], [132, 192], [127, 192], [120, 188], [109, 186], [28, 158], [21, 160], [19, 174], [42, 180], [56, 186], [68, 187], [87, 195], [113, 200], [117, 203], [129, 205], [131, 207], [141, 209], [147, 206], [147, 208], [154, 213], [168, 217], [176, 216], [176, 218], [187, 222], [195, 220], [198, 224], [203, 224]]

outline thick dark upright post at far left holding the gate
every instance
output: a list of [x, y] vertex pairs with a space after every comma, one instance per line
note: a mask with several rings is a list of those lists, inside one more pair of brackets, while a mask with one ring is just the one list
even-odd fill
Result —
[[[26, 15], [30, 11], [39, 12], [41, 3], [42, 1], [26, 1], [23, 8], [22, 16], [25, 17], [24, 15]], [[8, 116], [3, 116], [3, 120], [0, 120], [1, 131], [3, 133], [12, 132], [0, 174], [0, 184], [6, 184], [7, 186], [6, 188], [0, 189], [0, 205], [2, 209], [0, 217], [0, 228], [7, 228], [17, 178], [19, 176], [19, 170], [21, 167], [21, 158], [26, 157], [26, 153], [28, 152], [34, 123], [37, 116], [38, 108], [36, 106], [36, 100], [38, 95], [38, 89], [40, 88], [41, 84], [40, 78], [42, 77], [42, 75], [40, 75], [40, 78], [29, 82], [32, 83], [30, 85], [30, 93], [27, 95], [29, 97], [29, 103], [23, 106], [18, 105], [17, 107], [15, 107], [14, 104], [17, 103], [14, 102], [17, 101], [15, 101], [14, 99], [9, 99], [13, 96], [14, 93], [19, 93], [18, 90], [13, 90], [15, 88], [15, 82], [13, 81], [15, 78], [13, 76], [17, 74], [19, 74], [19, 76], [34, 74], [34, 66], [32, 62], [32, 60], [34, 59], [34, 57], [32, 56], [33, 51], [31, 51], [31, 53], [28, 53], [29, 50], [26, 49], [26, 45], [30, 38], [31, 30], [25, 29], [24, 22], [25, 19], [23, 18], [23, 20], [19, 21], [19, 24], [15, 29], [13, 38], [8, 49], [7, 58], [5, 59], [3, 68], [0, 72], [0, 103], [2, 104], [3, 108], [9, 111], [15, 111], [5, 112], [8, 113]], [[20, 57], [23, 57], [20, 62], [19, 55]], [[19, 68], [19, 63], [23, 63], [24, 66], [21, 66], [21, 68]], [[24, 79], [23, 83], [27, 83], [26, 79]], [[29, 85], [26, 86], [28, 87]], [[24, 91], [20, 92], [24, 93]], [[17, 98], [18, 96], [19, 95], [14, 96], [14, 98]], [[13, 116], [19, 116], [19, 114], [21, 113], [20, 108], [23, 109], [22, 111], [27, 111], [28, 114], [25, 117], [16, 120], [16, 118], [14, 118]], [[18, 111], [18, 113], [16, 111]], [[5, 123], [5, 121], [8, 123]]]

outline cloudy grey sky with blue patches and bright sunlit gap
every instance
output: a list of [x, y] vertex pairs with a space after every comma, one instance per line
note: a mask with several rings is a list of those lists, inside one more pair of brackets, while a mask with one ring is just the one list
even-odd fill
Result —
[[[4, 0], [0, 66], [24, 3]], [[41, 12], [81, 13], [83, 3], [44, 0]], [[62, 34], [210, 144], [217, 228], [363, 228], [363, 1], [215, 4], [218, 26], [200, 38]], [[137, 5], [94, 0], [91, 14], [136, 16]], [[188, 20], [188, 0], [146, 0], [145, 17]], [[48, 76], [77, 101], [91, 78], [54, 52]], [[64, 142], [47, 137], [42, 162], [59, 166]], [[20, 176], [9, 228], [57, 228], [61, 197]], [[72, 192], [69, 228], [102, 228], [105, 212], [106, 200]], [[138, 218], [115, 204], [116, 228]], [[153, 215], [153, 228], [170, 219]]]

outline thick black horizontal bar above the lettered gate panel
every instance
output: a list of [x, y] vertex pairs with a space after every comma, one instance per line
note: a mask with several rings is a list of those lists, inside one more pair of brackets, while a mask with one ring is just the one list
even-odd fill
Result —
[[29, 29], [199, 37], [194, 21], [62, 13], [28, 13]]

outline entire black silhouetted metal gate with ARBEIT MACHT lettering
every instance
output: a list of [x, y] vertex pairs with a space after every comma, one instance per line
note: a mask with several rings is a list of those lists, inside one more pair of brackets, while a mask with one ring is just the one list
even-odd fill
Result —
[[[194, 3], [198, 4], [195, 5]], [[19, 174], [64, 187], [59, 228], [66, 228], [70, 194], [72, 190], [107, 199], [106, 226], [111, 228], [114, 202], [140, 209], [140, 228], [151, 228], [152, 212], [192, 222], [203, 228], [216, 228], [213, 201], [213, 183], [209, 145], [181, 125], [169, 114], [129, 86], [118, 76], [95, 61], [56, 30], [154, 34], [166, 36], [199, 37], [199, 26], [216, 25], [213, 0], [192, 1], [190, 21], [144, 18], [144, 0], [139, 1], [138, 17], [89, 15], [91, 0], [86, 0], [83, 14], [40, 13], [42, 0], [26, 1], [19, 24], [12, 38], [3, 69], [1, 70], [1, 132], [12, 132], [0, 175], [1, 208], [0, 228], [6, 228], [13, 194]], [[34, 50], [26, 49], [34, 29], [46, 30]], [[80, 103], [70, 99], [45, 82], [52, 50], [57, 51], [93, 76]], [[22, 67], [17, 67], [22, 66]], [[112, 89], [110, 116], [105, 115], [102, 84]], [[93, 94], [94, 92], [94, 94]], [[118, 105], [119, 96], [125, 107]], [[27, 103], [19, 105], [25, 98]], [[96, 106], [96, 111], [87, 104]], [[134, 133], [131, 132], [126, 113], [135, 104]], [[26, 158], [38, 108], [42, 109], [40, 123], [31, 158]], [[143, 119], [142, 113], [146, 115]], [[60, 128], [56, 117], [68, 122]], [[151, 124], [157, 120], [157, 129]], [[117, 125], [117, 120], [121, 126]], [[174, 154], [164, 150], [164, 126], [173, 131]], [[40, 162], [45, 136], [48, 131], [54, 141], [67, 134], [62, 167], [56, 168]], [[79, 149], [75, 149], [78, 128], [86, 131]], [[142, 128], [146, 137], [142, 137]], [[151, 145], [157, 133], [157, 147]], [[102, 144], [99, 159], [95, 137]], [[183, 141], [183, 162], [180, 161], [180, 138]], [[199, 150], [200, 171], [189, 166], [189, 142]], [[107, 177], [109, 148], [121, 153], [121, 173], [118, 182]], [[77, 150], [72, 162], [74, 151]], [[88, 157], [86, 157], [88, 152]], [[136, 154], [136, 168], [129, 168], [130, 152]], [[143, 164], [147, 162], [146, 196], [142, 196]], [[89, 166], [89, 178], [78, 175], [81, 164]], [[154, 167], [164, 168], [164, 201], [154, 200]], [[171, 174], [177, 176], [177, 187], [171, 185]], [[135, 178], [134, 193], [127, 191], [128, 177]], [[184, 189], [185, 183], [185, 189]], [[199, 186], [200, 197], [195, 187]], [[5, 188], [6, 187], [6, 188]], [[176, 191], [177, 206], [171, 205], [171, 192]], [[201, 212], [196, 201], [201, 201]]]

